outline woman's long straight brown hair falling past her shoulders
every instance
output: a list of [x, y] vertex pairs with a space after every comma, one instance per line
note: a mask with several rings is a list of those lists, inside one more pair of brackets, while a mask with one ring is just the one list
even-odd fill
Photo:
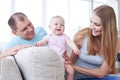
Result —
[[[116, 43], [118, 38], [116, 16], [112, 7], [102, 5], [94, 10], [94, 13], [101, 19], [102, 36], [94, 37], [89, 34], [89, 54], [99, 53], [103, 55], [109, 67], [115, 72]], [[91, 52], [94, 53], [91, 53]]]

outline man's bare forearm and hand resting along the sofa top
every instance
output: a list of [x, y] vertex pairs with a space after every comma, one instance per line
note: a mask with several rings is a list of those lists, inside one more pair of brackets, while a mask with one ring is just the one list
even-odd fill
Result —
[[30, 45], [21, 45], [21, 46], [16, 46], [11, 49], [8, 49], [0, 54], [0, 60], [4, 57], [15, 55], [19, 50], [27, 48], [27, 47], [30, 47]]

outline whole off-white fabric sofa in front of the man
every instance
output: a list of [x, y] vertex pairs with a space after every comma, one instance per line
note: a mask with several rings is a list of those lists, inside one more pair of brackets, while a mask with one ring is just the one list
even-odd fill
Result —
[[48, 47], [26, 48], [2, 59], [1, 80], [64, 80], [64, 65]]

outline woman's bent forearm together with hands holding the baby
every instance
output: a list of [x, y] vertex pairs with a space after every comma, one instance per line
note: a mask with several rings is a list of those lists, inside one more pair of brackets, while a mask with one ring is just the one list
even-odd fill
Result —
[[[80, 73], [83, 73], [85, 75], [102, 78], [105, 75], [107, 75], [111, 70], [106, 61], [103, 62], [103, 64], [101, 65], [100, 68], [83, 68], [83, 67], [80, 67], [80, 66], [77, 66], [77, 65], [74, 64], [74, 60], [76, 59], [77, 56], [73, 55], [71, 57], [73, 57], [74, 59], [69, 58], [68, 55], [64, 55], [65, 64], [72, 65], [74, 70], [76, 70], [76, 71], [78, 71]], [[73, 61], [71, 61], [71, 60], [73, 60]]]

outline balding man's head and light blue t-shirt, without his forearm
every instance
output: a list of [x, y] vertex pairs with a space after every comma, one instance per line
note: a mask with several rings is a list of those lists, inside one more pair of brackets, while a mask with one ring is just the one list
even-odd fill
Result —
[[8, 20], [8, 24], [15, 37], [6, 45], [5, 49], [23, 44], [34, 45], [47, 34], [42, 27], [34, 29], [27, 16], [20, 12], [14, 13]]

